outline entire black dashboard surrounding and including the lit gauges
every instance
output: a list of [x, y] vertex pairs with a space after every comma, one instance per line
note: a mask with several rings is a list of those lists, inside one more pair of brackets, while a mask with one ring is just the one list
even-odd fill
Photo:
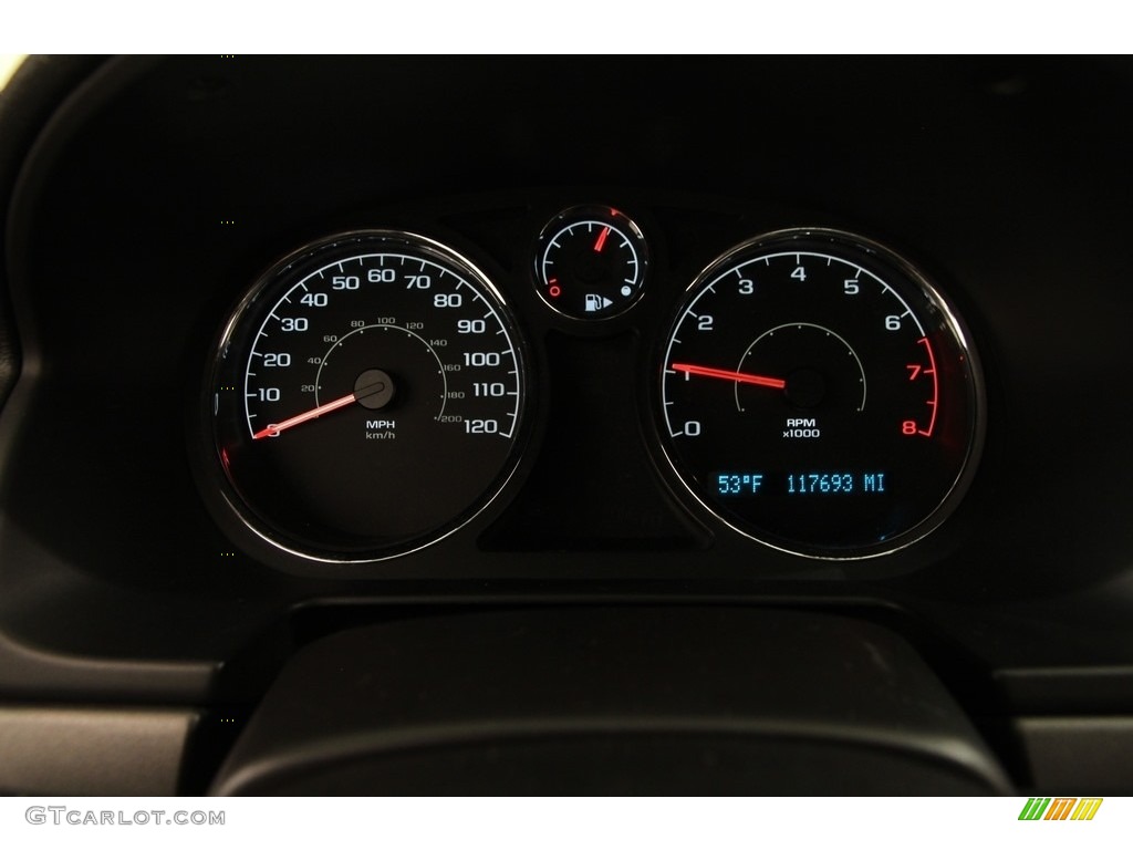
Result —
[[[1128, 792], [1131, 87], [1102, 60], [29, 61], [0, 100], [0, 722], [173, 717], [154, 792], [759, 791], [784, 770], [800, 792], [859, 788], [823, 771]], [[554, 254], [572, 233], [582, 253]], [[359, 245], [419, 274], [386, 281]], [[783, 286], [812, 289], [749, 316], [743, 263], [787, 255]], [[548, 257], [586, 300], [555, 304]], [[390, 288], [361, 309], [366, 280]], [[258, 342], [272, 323], [286, 346]], [[364, 331], [419, 342], [417, 365], [339, 367]], [[734, 341], [673, 355], [709, 333]], [[837, 364], [752, 374], [798, 350]], [[772, 393], [799, 418], [768, 442], [733, 420]], [[426, 396], [443, 443], [412, 442]], [[832, 405], [885, 415], [789, 444], [836, 433]], [[773, 479], [775, 508], [735, 508]], [[352, 685], [323, 679], [340, 663]], [[352, 690], [370, 675], [390, 685]], [[335, 717], [363, 742], [327, 742]], [[386, 740], [441, 728], [467, 733]], [[121, 734], [103, 784], [60, 790], [138, 790]], [[926, 743], [949, 736], [968, 755]], [[705, 747], [726, 756], [709, 777]], [[790, 764], [810, 767], [769, 766]], [[22, 776], [0, 780], [43, 790]]]

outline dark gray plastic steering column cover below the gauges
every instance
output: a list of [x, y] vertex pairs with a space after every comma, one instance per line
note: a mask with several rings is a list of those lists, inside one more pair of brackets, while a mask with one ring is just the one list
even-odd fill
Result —
[[[424, 758], [428, 775], [431, 754], [463, 749], [495, 760], [474, 770], [474, 755], [455, 776], [446, 771], [466, 783], [450, 791], [492, 793], [505, 775], [531, 770], [525, 741], [610, 736], [683, 740], [693, 751], [722, 737], [807, 742], [819, 751], [812, 764], [843, 774], [861, 772], [845, 756], [857, 749], [884, 757], [889, 787], [894, 776], [921, 776], [909, 793], [940, 792], [923, 779], [926, 765], [940, 782], [963, 777], [968, 793], [1011, 791], [963, 712], [896, 635], [792, 611], [659, 606], [489, 611], [324, 638], [284, 668], [213, 792], [305, 793], [359, 765], [384, 776], [383, 759], [407, 754]], [[604, 792], [586, 747], [576, 754], [535, 770], [572, 775], [569, 792]], [[763, 782], [787, 767], [756, 759], [744, 773]], [[633, 771], [647, 768], [619, 770], [634, 787]], [[823, 773], [795, 776], [782, 792], [823, 792]], [[637, 779], [656, 790], [655, 775]], [[875, 776], [858, 779], [862, 793], [877, 787]], [[392, 791], [375, 779], [351, 792]]]

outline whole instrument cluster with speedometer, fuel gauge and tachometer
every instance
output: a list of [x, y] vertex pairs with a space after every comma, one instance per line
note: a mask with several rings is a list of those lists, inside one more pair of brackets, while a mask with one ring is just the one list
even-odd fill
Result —
[[[377, 221], [265, 262], [219, 323], [201, 393], [197, 478], [233, 541], [314, 576], [381, 577], [474, 519], [475, 545], [508, 549], [492, 529], [509, 505], [571, 510], [570, 479], [543, 503], [554, 487], [527, 486], [539, 458], [607, 431], [640, 442], [702, 546], [854, 562], [948, 519], [977, 473], [983, 379], [922, 270], [825, 227], [708, 250], [718, 235], [663, 232], [647, 205], [640, 223], [610, 201], [520, 216], [502, 255]], [[563, 340], [617, 339], [630, 382], [554, 362]], [[579, 380], [630, 402], [587, 406]], [[587, 475], [600, 490], [620, 467], [615, 448]]]

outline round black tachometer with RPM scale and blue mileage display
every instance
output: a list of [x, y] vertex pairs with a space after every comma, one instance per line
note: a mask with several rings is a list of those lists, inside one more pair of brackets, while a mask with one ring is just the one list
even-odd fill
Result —
[[662, 445], [732, 528], [847, 559], [936, 528], [970, 478], [981, 390], [959, 321], [909, 264], [781, 231], [689, 289], [661, 365]]

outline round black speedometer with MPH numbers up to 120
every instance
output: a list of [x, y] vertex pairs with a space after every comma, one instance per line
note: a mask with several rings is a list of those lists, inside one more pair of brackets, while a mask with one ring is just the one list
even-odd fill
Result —
[[402, 232], [309, 246], [253, 287], [210, 389], [229, 502], [261, 537], [327, 561], [417, 549], [514, 468], [522, 347], [488, 280]]

